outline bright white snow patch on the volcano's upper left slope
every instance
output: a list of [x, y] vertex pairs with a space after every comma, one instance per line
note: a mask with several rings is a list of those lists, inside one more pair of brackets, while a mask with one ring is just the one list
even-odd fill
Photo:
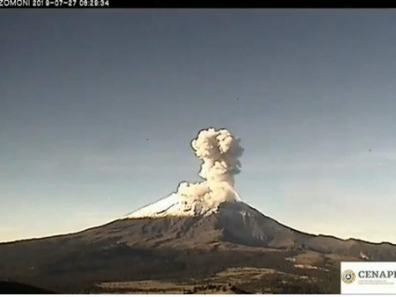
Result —
[[201, 199], [187, 202], [176, 193], [172, 193], [170, 196], [142, 207], [124, 218], [208, 215], [217, 212], [219, 204], [209, 204]]

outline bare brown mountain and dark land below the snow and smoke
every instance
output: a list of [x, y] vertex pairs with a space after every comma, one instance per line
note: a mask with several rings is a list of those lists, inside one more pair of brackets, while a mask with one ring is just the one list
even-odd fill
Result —
[[254, 293], [337, 294], [340, 261], [366, 259], [396, 260], [396, 246], [302, 233], [245, 203], [225, 202], [209, 215], [123, 219], [1, 244], [0, 278], [62, 293], [157, 280], [225, 282]]

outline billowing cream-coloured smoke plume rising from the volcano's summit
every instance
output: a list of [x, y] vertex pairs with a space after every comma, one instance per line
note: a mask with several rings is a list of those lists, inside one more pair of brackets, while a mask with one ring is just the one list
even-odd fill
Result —
[[179, 185], [177, 194], [184, 204], [203, 202], [212, 205], [239, 200], [234, 189], [234, 176], [241, 171], [239, 157], [244, 151], [239, 143], [240, 140], [227, 129], [209, 128], [198, 133], [191, 147], [202, 160], [199, 176], [204, 181]]

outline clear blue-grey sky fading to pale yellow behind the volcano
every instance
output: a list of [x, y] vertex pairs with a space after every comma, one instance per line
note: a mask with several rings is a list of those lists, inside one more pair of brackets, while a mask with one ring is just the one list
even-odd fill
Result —
[[106, 223], [245, 148], [241, 197], [396, 243], [395, 10], [0, 12], [0, 241]]

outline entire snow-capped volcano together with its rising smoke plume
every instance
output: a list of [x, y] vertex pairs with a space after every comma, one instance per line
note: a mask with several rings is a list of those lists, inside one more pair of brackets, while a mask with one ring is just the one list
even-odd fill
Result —
[[243, 149], [228, 130], [203, 130], [192, 148], [202, 182], [96, 228], [0, 244], [0, 280], [60, 293], [339, 294], [340, 261], [396, 260], [391, 243], [303, 233], [251, 207], [234, 188]]

